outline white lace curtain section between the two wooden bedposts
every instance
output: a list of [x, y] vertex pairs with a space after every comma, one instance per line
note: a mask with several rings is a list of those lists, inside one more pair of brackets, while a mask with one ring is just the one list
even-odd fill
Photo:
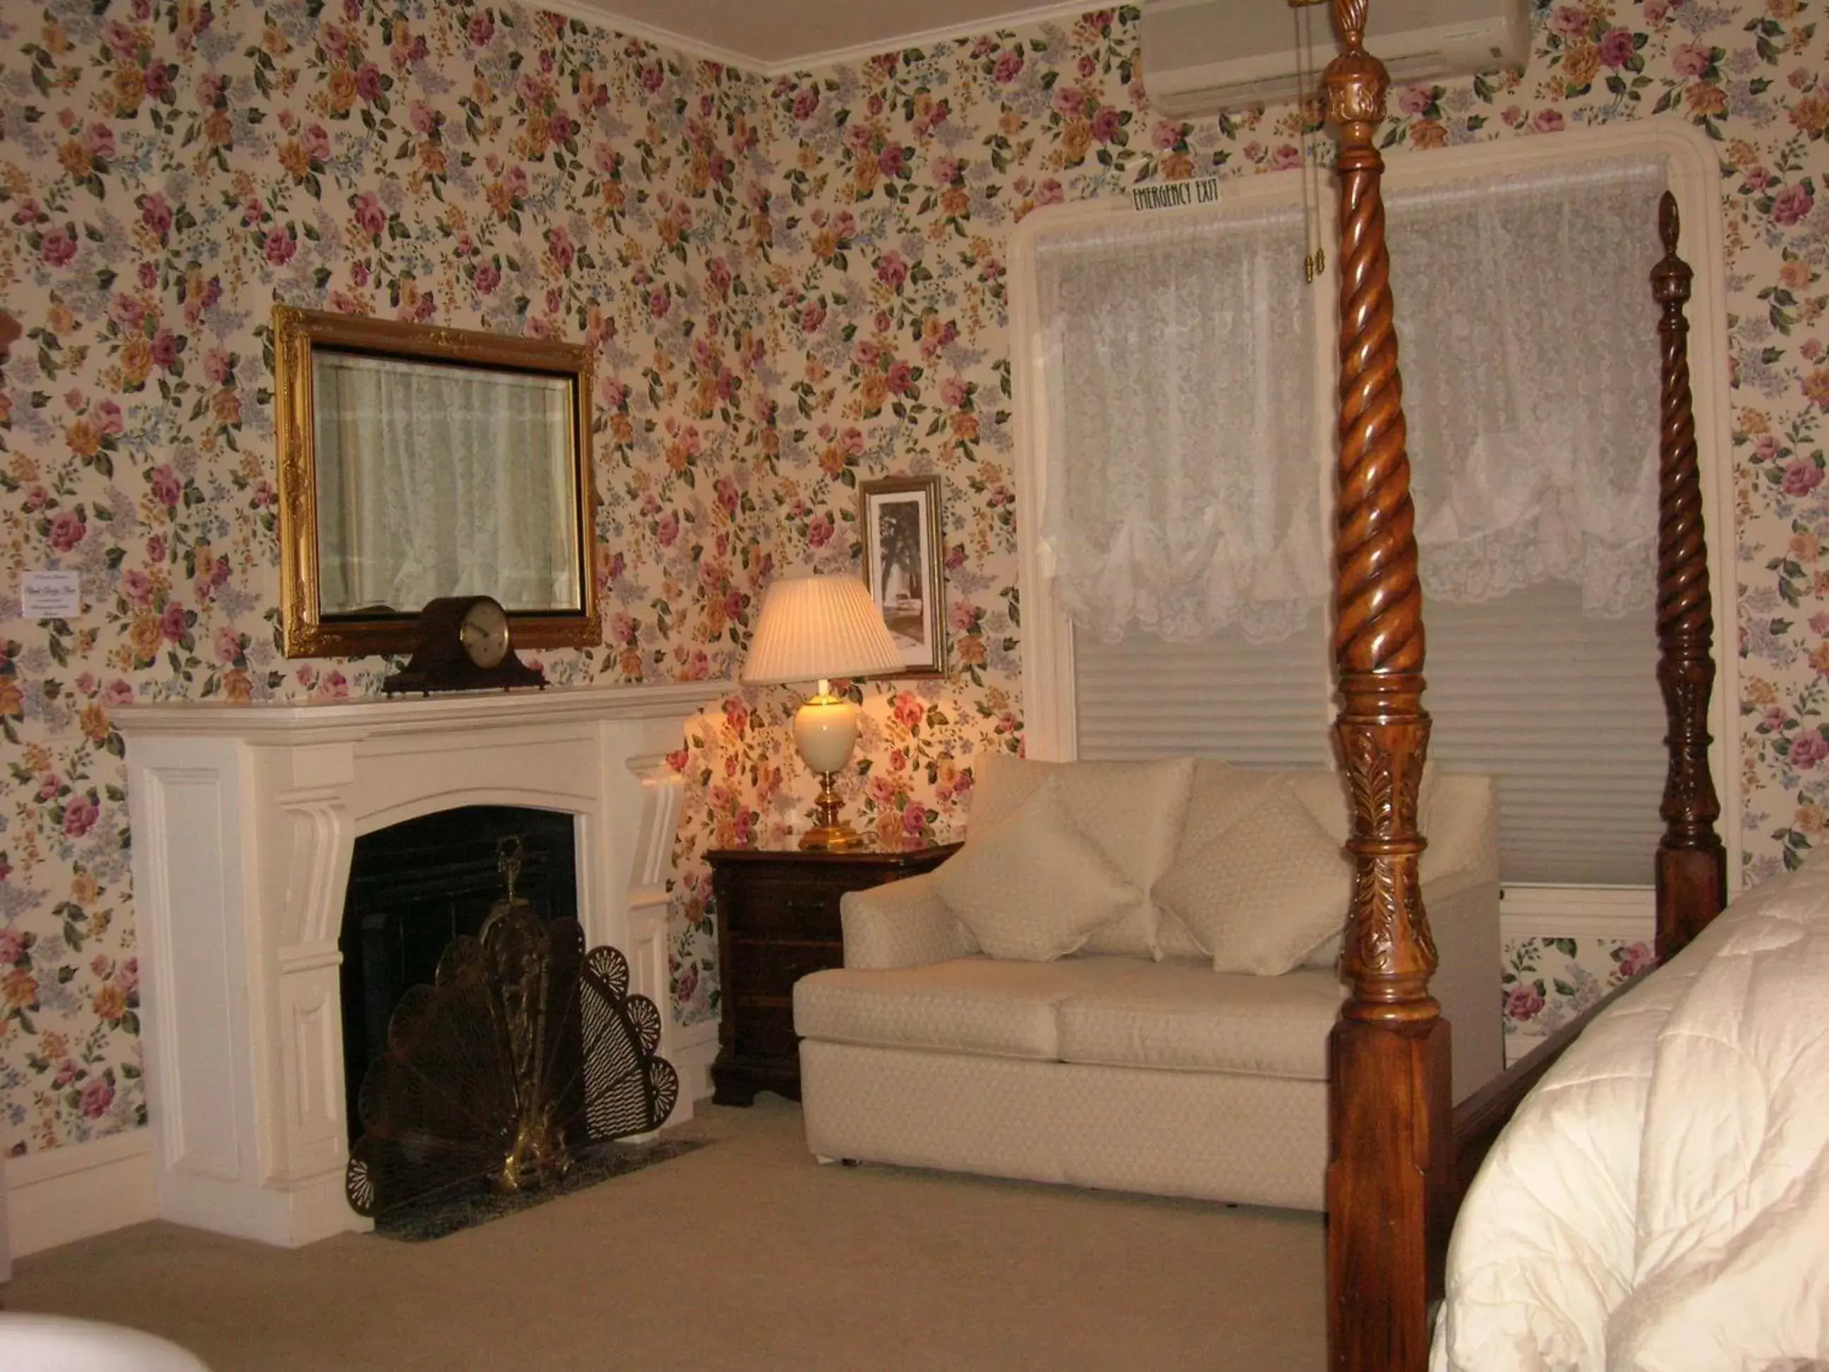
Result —
[[1652, 604], [1664, 183], [1642, 157], [1390, 198], [1430, 596], [1560, 580], [1591, 616]]

